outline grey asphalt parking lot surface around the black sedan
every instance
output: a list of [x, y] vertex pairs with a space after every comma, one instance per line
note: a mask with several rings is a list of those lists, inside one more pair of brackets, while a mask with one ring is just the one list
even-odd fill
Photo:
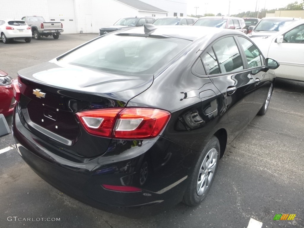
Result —
[[[97, 36], [0, 42], [0, 69], [16, 78], [18, 70]], [[10, 126], [11, 116], [6, 120]], [[277, 80], [268, 112], [256, 116], [227, 146], [202, 204], [180, 203], [150, 218], [128, 219], [62, 194], [36, 175], [13, 147], [12, 133], [0, 136], [0, 227], [304, 227], [304, 82]], [[296, 216], [274, 221], [276, 214]]]

